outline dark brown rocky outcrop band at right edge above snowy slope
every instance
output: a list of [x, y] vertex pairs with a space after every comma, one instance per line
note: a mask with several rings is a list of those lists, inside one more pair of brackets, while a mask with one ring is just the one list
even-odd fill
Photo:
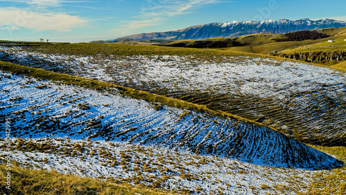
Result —
[[346, 60], [346, 51], [316, 51], [308, 53], [279, 53], [275, 51], [270, 55], [298, 59], [304, 62], [316, 62], [318, 64]]

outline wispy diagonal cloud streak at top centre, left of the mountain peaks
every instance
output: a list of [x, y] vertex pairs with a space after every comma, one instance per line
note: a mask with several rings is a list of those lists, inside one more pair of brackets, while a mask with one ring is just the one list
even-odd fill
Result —
[[125, 21], [125, 28], [136, 29], [146, 26], [156, 26], [169, 17], [186, 15], [203, 6], [223, 3], [220, 0], [148, 0], [146, 2], [146, 7], [142, 9], [140, 15], [134, 20]]

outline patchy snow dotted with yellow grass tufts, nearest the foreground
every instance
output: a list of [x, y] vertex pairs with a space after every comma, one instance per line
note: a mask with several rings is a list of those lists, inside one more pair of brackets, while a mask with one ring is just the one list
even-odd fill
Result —
[[[3, 143], [0, 141], [0, 146]], [[190, 190], [196, 194], [307, 192], [313, 175], [321, 172], [264, 167], [183, 150], [122, 142], [21, 138], [13, 143], [16, 149], [11, 156], [24, 167], [53, 169], [104, 180], [111, 178], [132, 185], [159, 185], [163, 189]]]

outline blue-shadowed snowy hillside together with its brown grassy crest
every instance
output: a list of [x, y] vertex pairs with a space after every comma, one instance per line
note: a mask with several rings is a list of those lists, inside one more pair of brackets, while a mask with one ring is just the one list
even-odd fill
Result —
[[[14, 82], [13, 80], [24, 81], [24, 78], [9, 75], [11, 80], [2, 84], [5, 91], [0, 94], [6, 92], [8, 95], [12, 94], [13, 98], [1, 100], [2, 111], [0, 111], [0, 115], [12, 118], [16, 124], [21, 123], [16, 127], [14, 126], [16, 130], [12, 134], [16, 137], [37, 138], [46, 137], [47, 133], [48, 135], [60, 136], [64, 133], [83, 139], [126, 140], [141, 144], [180, 147], [191, 149], [197, 154], [214, 154], [270, 166], [320, 169], [340, 165], [338, 160], [311, 150], [311, 148], [284, 136], [282, 133], [277, 133], [264, 124], [230, 113], [214, 111], [203, 105], [26, 66], [1, 64], [0, 67], [12, 73], [60, 81], [65, 84], [75, 83], [80, 86], [91, 84], [88, 88], [98, 89], [102, 93], [105, 91], [110, 93], [100, 98], [98, 97], [100, 94], [93, 91], [80, 91], [78, 94], [89, 94], [92, 98], [78, 96], [66, 90], [67, 86], [55, 86], [54, 84], [35, 82], [35, 80], [28, 80], [23, 83], [16, 81], [17, 87], [25, 89], [25, 93], [21, 93], [20, 91], [13, 91], [16, 89], [5, 87], [10, 82]], [[77, 82], [74, 82], [75, 80]], [[78, 90], [74, 89], [73, 86], [70, 88], [73, 91]], [[116, 89], [118, 91], [115, 91]], [[51, 94], [53, 91], [55, 93]], [[66, 102], [66, 93], [73, 100]], [[30, 94], [36, 96], [37, 102], [42, 102], [42, 98], [44, 98], [45, 105], [35, 104], [35, 101], [28, 102]], [[40, 94], [42, 95], [40, 96]], [[120, 97], [120, 94], [154, 102], [154, 104], [124, 99]], [[111, 100], [116, 101], [117, 104]], [[97, 104], [96, 102], [100, 103]], [[105, 103], [108, 106], [99, 108]], [[159, 103], [161, 106], [158, 105]], [[22, 104], [24, 107], [21, 106]], [[27, 108], [26, 104], [30, 104], [30, 108]], [[135, 104], [137, 105], [136, 109], [134, 109]], [[44, 109], [45, 106], [55, 109]], [[167, 106], [174, 106], [179, 110], [170, 109]], [[153, 109], [149, 109], [151, 107]], [[72, 110], [66, 111], [70, 109]], [[126, 109], [126, 112], [122, 109]], [[84, 111], [90, 112], [86, 114]], [[19, 115], [27, 112], [44, 113], [33, 115], [28, 120], [21, 121]], [[127, 113], [131, 113], [131, 115], [127, 115]], [[155, 123], [152, 124], [152, 121]], [[217, 129], [222, 129], [222, 131], [217, 131]], [[227, 136], [220, 140], [225, 135]], [[275, 140], [275, 142], [268, 140]], [[275, 155], [277, 153], [281, 155]], [[306, 160], [292, 160], [293, 156], [305, 156], [304, 159]]]

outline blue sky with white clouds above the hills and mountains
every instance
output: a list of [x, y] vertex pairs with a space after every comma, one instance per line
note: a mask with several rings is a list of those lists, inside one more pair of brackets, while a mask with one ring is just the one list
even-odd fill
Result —
[[214, 21], [346, 21], [345, 8], [345, 0], [0, 0], [0, 39], [80, 42]]

